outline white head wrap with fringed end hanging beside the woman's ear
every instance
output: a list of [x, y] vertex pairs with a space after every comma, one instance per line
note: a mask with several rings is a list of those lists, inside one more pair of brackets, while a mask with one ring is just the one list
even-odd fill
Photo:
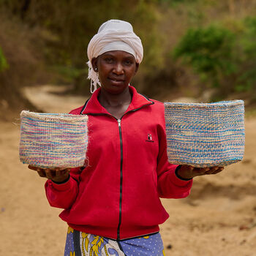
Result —
[[132, 54], [136, 63], [139, 64], [143, 59], [143, 46], [140, 37], [133, 32], [132, 25], [124, 20], [106, 21], [99, 27], [98, 33], [91, 38], [87, 48], [91, 93], [96, 91], [97, 84], [101, 86], [98, 73], [92, 68], [91, 59], [110, 50], [124, 50]]

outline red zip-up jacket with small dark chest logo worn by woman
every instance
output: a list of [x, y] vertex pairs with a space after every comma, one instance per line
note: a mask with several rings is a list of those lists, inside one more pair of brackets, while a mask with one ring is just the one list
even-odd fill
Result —
[[132, 102], [118, 120], [100, 105], [100, 89], [70, 112], [89, 116], [86, 167], [73, 168], [64, 184], [45, 184], [70, 227], [117, 240], [158, 232], [169, 217], [159, 197], [187, 197], [192, 187], [167, 161], [164, 105], [129, 90]]

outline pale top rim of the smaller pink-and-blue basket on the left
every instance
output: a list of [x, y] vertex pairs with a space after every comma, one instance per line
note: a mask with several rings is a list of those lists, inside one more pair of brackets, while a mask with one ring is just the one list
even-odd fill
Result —
[[72, 115], [68, 113], [37, 113], [29, 110], [23, 110], [20, 113], [20, 118], [35, 118], [41, 121], [66, 121], [75, 123], [77, 121], [87, 121], [88, 116], [86, 115]]

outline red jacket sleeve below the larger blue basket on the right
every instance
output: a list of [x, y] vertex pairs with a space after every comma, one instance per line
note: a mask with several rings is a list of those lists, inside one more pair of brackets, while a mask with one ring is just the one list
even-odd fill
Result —
[[176, 176], [178, 165], [172, 165], [167, 159], [167, 142], [165, 127], [158, 127], [159, 155], [157, 158], [157, 191], [159, 197], [183, 198], [187, 197], [192, 187], [192, 179], [181, 180]]

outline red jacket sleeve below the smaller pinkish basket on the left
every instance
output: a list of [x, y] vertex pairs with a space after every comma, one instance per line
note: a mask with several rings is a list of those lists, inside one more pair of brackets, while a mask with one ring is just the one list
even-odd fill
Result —
[[70, 208], [78, 196], [80, 167], [72, 168], [69, 180], [63, 184], [56, 184], [51, 180], [45, 183], [45, 193], [50, 206]]

